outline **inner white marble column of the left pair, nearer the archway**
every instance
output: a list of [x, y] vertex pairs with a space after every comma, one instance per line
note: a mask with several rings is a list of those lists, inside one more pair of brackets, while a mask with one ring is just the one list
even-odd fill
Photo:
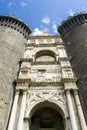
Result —
[[20, 115], [19, 115], [17, 130], [23, 129], [23, 119], [24, 119], [25, 107], [26, 107], [26, 92], [24, 91], [23, 96], [22, 96], [22, 101], [21, 101]]

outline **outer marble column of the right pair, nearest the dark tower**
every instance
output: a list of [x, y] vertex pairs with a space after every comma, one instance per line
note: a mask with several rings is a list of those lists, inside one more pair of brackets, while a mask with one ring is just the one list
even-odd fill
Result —
[[74, 98], [75, 98], [75, 103], [76, 103], [76, 107], [77, 107], [77, 111], [78, 111], [78, 116], [79, 116], [81, 128], [82, 128], [82, 130], [87, 130], [86, 122], [84, 119], [84, 115], [83, 115], [83, 111], [82, 111], [82, 107], [80, 104], [77, 90], [73, 90], [73, 94], [74, 94]]

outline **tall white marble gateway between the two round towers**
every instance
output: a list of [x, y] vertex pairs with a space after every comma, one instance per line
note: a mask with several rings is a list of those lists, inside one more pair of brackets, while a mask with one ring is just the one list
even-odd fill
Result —
[[7, 130], [86, 130], [70, 59], [60, 36], [29, 36]]

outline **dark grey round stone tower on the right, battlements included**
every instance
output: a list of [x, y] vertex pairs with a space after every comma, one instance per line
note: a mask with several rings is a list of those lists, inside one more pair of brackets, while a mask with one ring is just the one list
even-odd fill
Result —
[[87, 122], [87, 13], [69, 17], [58, 27], [66, 50], [72, 56], [72, 67], [78, 77], [77, 86]]

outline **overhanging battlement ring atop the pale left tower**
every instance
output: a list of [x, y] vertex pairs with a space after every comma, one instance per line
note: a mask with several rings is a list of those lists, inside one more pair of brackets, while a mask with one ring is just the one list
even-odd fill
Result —
[[21, 19], [9, 15], [0, 15], [0, 26], [6, 26], [22, 33], [25, 38], [28, 38], [31, 33], [31, 28]]

